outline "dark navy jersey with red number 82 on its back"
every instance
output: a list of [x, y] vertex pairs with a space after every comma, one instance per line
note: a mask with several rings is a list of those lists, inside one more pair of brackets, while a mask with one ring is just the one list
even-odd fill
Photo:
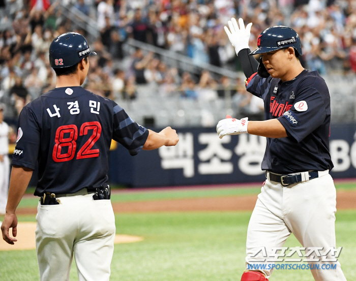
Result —
[[149, 135], [116, 103], [80, 86], [55, 88], [29, 103], [18, 127], [12, 164], [35, 169], [38, 162], [37, 196], [106, 184], [111, 139], [135, 155]]

